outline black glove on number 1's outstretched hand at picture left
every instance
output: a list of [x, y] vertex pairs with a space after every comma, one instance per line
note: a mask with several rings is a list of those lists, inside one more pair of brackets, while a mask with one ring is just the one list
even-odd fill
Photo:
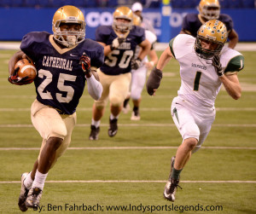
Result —
[[157, 90], [159, 88], [162, 77], [163, 73], [159, 69], [154, 67], [149, 74], [146, 84], [148, 95], [154, 95], [154, 90]]

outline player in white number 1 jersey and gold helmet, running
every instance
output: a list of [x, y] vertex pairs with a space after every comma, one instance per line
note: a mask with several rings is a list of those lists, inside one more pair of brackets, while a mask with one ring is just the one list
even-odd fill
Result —
[[155, 95], [160, 86], [162, 70], [175, 58], [180, 65], [181, 87], [172, 101], [172, 119], [183, 143], [171, 159], [171, 173], [166, 182], [164, 197], [175, 200], [180, 173], [206, 140], [215, 119], [214, 102], [221, 85], [235, 100], [241, 96], [237, 72], [244, 67], [243, 56], [224, 47], [227, 29], [219, 20], [209, 20], [197, 32], [197, 37], [179, 34], [160, 56], [147, 82], [149, 95]]

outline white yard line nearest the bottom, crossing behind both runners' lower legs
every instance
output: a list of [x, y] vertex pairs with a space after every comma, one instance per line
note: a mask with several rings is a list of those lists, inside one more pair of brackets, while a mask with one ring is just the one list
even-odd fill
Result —
[[[119, 181], [119, 180], [109, 180], [109, 181], [102, 181], [102, 180], [93, 180], [93, 181], [46, 181], [49, 183], [114, 183], [114, 182], [132, 182], [132, 183], [152, 183], [152, 182], [160, 182], [160, 183], [165, 183], [166, 181], [130, 181], [130, 180], [124, 180], [124, 181]], [[180, 181], [180, 182], [187, 182], [187, 183], [256, 183], [256, 181]], [[20, 183], [20, 181], [3, 181], [0, 182], [0, 184], [8, 184], [8, 183]]]

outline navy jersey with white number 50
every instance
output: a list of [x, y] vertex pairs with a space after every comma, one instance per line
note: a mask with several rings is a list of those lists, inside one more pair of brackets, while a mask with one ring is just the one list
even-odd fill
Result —
[[[118, 36], [112, 26], [99, 26], [96, 29], [96, 41], [106, 43], [113, 42]], [[119, 75], [131, 72], [131, 58], [135, 53], [136, 46], [145, 40], [145, 30], [140, 26], [133, 26], [124, 43], [118, 49], [113, 49], [105, 56], [101, 71], [108, 75]]]

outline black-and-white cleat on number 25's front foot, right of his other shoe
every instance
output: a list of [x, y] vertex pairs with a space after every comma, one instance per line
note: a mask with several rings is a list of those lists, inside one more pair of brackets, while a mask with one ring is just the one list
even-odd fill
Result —
[[26, 206], [34, 211], [38, 210], [38, 205], [42, 198], [43, 191], [40, 188], [31, 188], [27, 194]]

